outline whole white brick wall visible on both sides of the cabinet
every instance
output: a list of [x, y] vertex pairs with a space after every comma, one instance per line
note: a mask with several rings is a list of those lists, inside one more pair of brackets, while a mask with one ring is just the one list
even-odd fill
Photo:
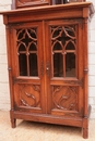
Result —
[[[95, 0], [86, 1], [93, 2], [95, 7]], [[10, 9], [11, 0], [0, 0], [0, 11]], [[90, 25], [88, 44], [88, 103], [92, 105], [91, 118], [95, 118], [95, 15]], [[0, 110], [10, 110], [5, 29], [2, 15], [0, 15]]]

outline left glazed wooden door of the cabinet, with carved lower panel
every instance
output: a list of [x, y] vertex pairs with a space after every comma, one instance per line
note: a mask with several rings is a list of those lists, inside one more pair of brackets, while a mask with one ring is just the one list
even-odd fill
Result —
[[40, 22], [10, 26], [12, 108], [44, 113], [43, 26]]

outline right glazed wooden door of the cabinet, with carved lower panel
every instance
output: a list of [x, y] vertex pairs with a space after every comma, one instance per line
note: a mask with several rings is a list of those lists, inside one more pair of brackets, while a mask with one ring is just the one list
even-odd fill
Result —
[[46, 22], [47, 113], [83, 115], [82, 20]]

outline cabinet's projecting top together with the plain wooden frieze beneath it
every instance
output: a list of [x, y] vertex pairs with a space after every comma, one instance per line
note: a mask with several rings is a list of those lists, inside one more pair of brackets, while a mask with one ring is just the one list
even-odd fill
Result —
[[12, 24], [31, 21], [45, 21], [57, 18], [92, 18], [94, 7], [92, 2], [73, 2], [68, 4], [56, 4], [2, 11], [3, 24]]

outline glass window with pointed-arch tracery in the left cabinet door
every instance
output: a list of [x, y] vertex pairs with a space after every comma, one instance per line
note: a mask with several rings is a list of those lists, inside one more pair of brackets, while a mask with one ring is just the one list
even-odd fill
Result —
[[20, 76], [38, 76], [37, 29], [16, 29]]

